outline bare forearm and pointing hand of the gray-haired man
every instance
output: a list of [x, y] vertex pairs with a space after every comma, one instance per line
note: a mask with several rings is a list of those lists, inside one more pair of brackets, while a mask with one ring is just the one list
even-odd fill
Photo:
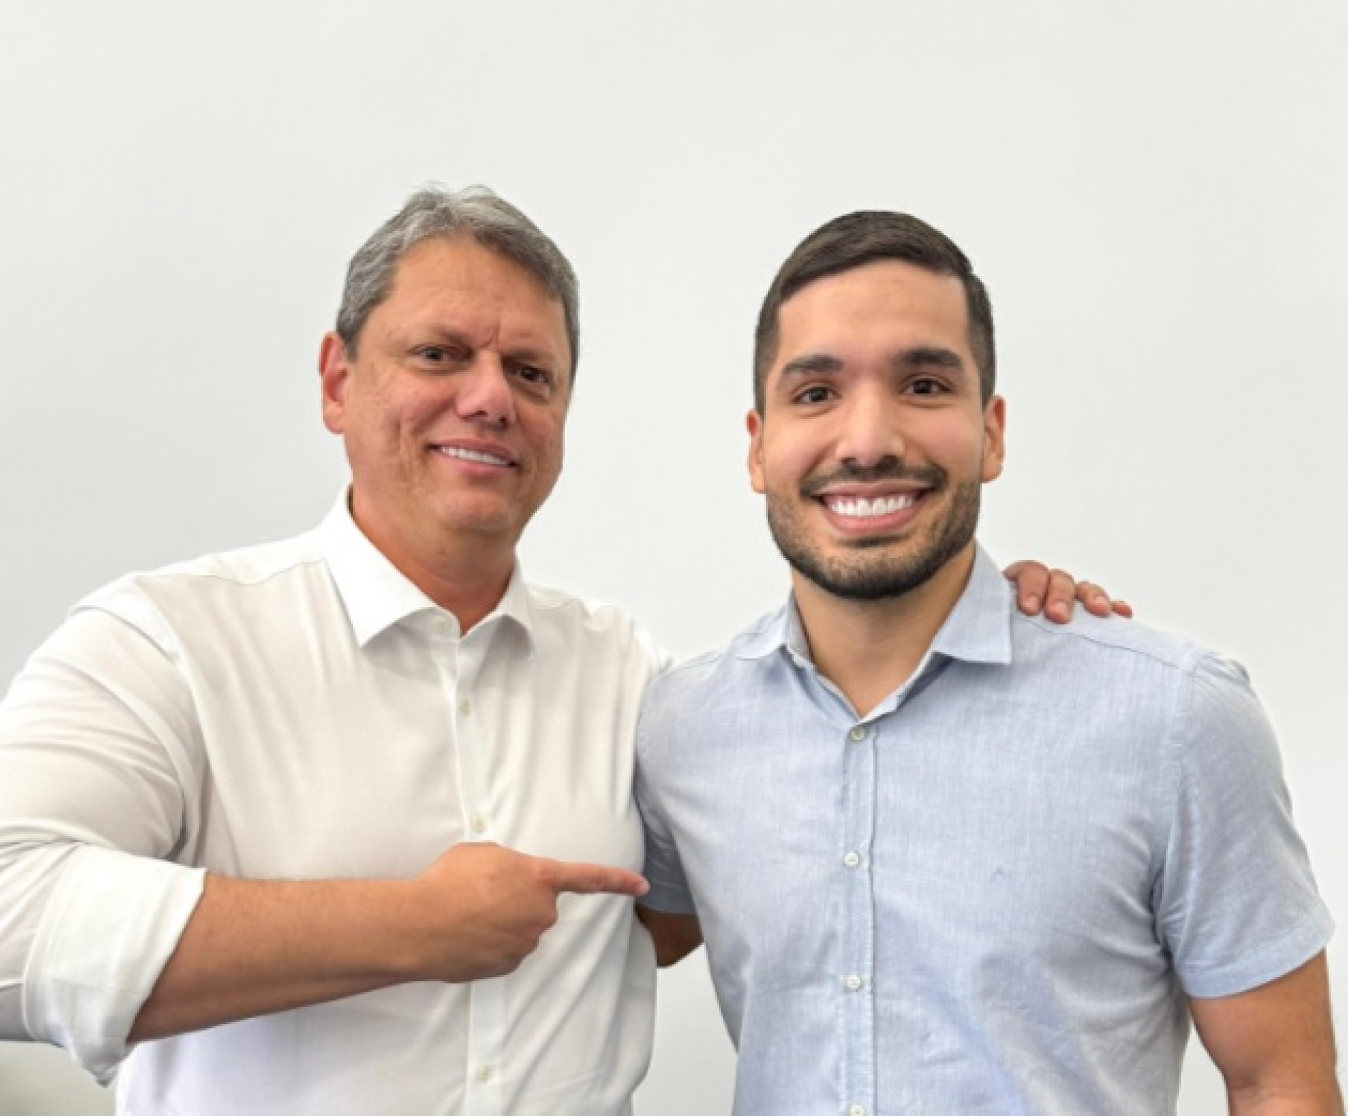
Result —
[[557, 922], [558, 892], [644, 890], [621, 868], [473, 842], [452, 846], [414, 880], [208, 876], [131, 1041], [414, 980], [501, 976]]

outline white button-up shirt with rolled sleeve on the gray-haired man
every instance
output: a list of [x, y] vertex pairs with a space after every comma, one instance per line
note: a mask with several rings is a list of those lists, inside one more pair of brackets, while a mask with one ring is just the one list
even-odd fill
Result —
[[[202, 869], [407, 877], [481, 840], [640, 871], [632, 736], [659, 666], [621, 612], [518, 571], [460, 635], [345, 501], [104, 589], [0, 705], [0, 1039], [106, 1078]], [[119, 1111], [617, 1116], [654, 983], [631, 900], [563, 895], [510, 976], [144, 1043]]]

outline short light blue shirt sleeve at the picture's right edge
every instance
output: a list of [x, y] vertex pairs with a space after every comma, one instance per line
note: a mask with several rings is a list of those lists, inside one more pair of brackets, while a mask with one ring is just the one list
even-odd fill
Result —
[[1155, 918], [1185, 992], [1231, 996], [1309, 961], [1333, 921], [1293, 825], [1273, 728], [1237, 663], [1197, 663], [1169, 762]]

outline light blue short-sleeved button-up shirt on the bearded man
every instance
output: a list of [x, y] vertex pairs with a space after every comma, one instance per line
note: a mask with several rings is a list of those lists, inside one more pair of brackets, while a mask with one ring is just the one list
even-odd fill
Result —
[[1018, 613], [979, 553], [865, 717], [793, 605], [647, 691], [646, 903], [701, 917], [737, 1116], [1173, 1112], [1185, 993], [1332, 933], [1244, 671]]

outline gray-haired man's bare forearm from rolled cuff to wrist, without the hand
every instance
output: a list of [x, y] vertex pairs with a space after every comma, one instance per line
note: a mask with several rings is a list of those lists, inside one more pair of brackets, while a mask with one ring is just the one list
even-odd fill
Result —
[[129, 1041], [214, 1027], [421, 977], [410, 880], [206, 876]]

